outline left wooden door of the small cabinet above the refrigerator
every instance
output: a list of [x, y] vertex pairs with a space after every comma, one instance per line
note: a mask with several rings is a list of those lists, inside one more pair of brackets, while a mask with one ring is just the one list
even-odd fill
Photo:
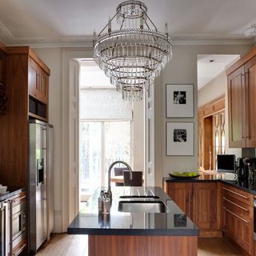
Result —
[[38, 64], [31, 58], [29, 61], [29, 94], [38, 98], [38, 88], [40, 86], [40, 69]]

